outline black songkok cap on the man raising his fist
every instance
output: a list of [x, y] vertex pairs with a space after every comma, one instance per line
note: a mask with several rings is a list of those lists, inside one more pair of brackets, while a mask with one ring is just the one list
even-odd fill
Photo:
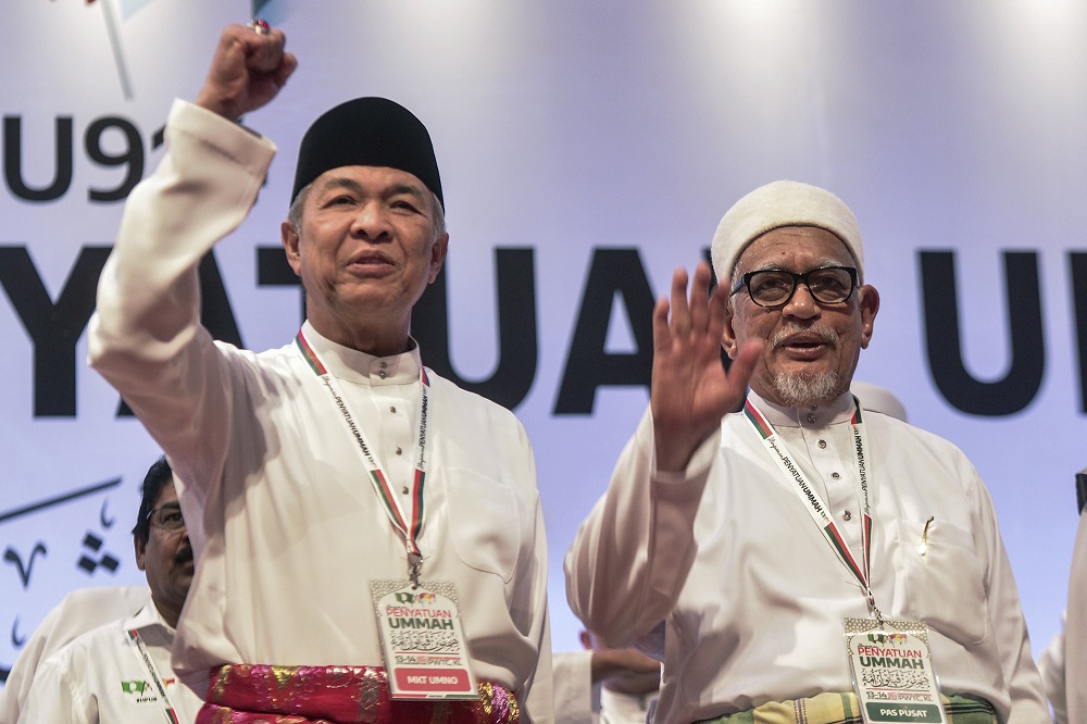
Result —
[[298, 149], [291, 202], [317, 176], [340, 166], [407, 171], [446, 208], [430, 134], [411, 111], [387, 98], [355, 98], [313, 122]]

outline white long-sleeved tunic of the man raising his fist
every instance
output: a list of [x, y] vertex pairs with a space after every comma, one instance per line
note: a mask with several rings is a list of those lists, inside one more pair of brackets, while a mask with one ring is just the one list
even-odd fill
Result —
[[[407, 578], [407, 551], [343, 416], [293, 344], [254, 354], [199, 324], [197, 264], [245, 219], [274, 146], [180, 101], [166, 128], [102, 273], [90, 357], [166, 452], [191, 521], [175, 670], [199, 688], [224, 663], [382, 665], [370, 582]], [[399, 496], [417, 458], [417, 348], [376, 358], [303, 334]], [[551, 721], [532, 448], [508, 410], [427, 375], [421, 577], [457, 585], [476, 677]]]

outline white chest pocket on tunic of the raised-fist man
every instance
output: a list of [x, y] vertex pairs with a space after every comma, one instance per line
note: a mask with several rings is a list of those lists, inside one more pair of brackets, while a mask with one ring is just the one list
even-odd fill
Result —
[[449, 472], [450, 537], [466, 565], [509, 583], [522, 546], [521, 509], [513, 490], [466, 470]]

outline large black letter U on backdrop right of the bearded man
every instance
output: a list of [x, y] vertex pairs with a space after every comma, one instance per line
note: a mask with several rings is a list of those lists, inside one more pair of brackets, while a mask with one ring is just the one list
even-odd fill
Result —
[[1003, 379], [992, 383], [975, 379], [963, 365], [954, 252], [921, 251], [920, 255], [925, 340], [937, 388], [948, 402], [969, 414], [996, 417], [1023, 410], [1038, 394], [1046, 366], [1038, 254], [1033, 251], [1003, 254], [1011, 365]]

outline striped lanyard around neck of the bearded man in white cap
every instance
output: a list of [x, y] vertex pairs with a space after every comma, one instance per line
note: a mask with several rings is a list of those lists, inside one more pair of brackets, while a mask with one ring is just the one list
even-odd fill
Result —
[[766, 448], [771, 458], [777, 463], [777, 466], [785, 473], [785, 476], [792, 480], [795, 485], [792, 489], [796, 490], [797, 495], [800, 496], [800, 500], [804, 503], [804, 508], [808, 510], [809, 514], [812, 516], [815, 525], [819, 526], [820, 530], [823, 533], [823, 537], [834, 552], [838, 556], [841, 562], [849, 569], [849, 572], [860, 582], [861, 588], [864, 590], [867, 597], [869, 608], [876, 615], [879, 621], [883, 621], [883, 614], [879, 609], [876, 608], [875, 596], [872, 592], [872, 512], [869, 502], [869, 474], [867, 464], [864, 457], [864, 450], [867, 447], [867, 439], [864, 435], [864, 423], [861, 419], [861, 403], [858, 401], [857, 397], [853, 397], [854, 412], [850, 420], [850, 425], [853, 432], [853, 452], [857, 457], [857, 472], [861, 478], [861, 495], [864, 504], [864, 510], [861, 519], [861, 559], [858, 563], [857, 558], [853, 556], [852, 551], [849, 550], [849, 546], [846, 545], [846, 540], [841, 537], [838, 530], [838, 526], [835, 524], [834, 519], [827, 512], [826, 503], [823, 499], [819, 497], [819, 494], [809, 485], [808, 480], [804, 478], [802, 472], [797, 466], [797, 464], [789, 457], [789, 451], [785, 447], [785, 441], [778, 437], [777, 432], [774, 429], [773, 425], [755, 409], [751, 400], [747, 400], [744, 403], [744, 414], [747, 415], [748, 421], [759, 433], [762, 438], [762, 444]]

